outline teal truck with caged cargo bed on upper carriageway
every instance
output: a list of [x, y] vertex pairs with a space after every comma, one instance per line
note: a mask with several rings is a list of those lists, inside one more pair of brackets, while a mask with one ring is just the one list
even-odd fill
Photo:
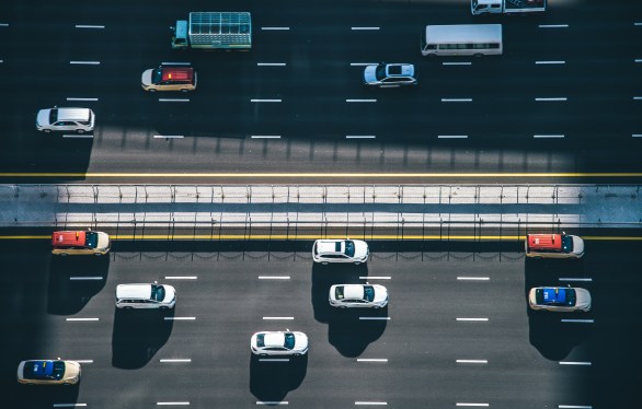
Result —
[[174, 49], [252, 48], [252, 16], [248, 12], [198, 11], [179, 20], [172, 28]]

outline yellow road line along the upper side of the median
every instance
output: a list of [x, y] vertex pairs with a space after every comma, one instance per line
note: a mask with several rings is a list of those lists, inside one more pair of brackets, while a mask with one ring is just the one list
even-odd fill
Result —
[[0, 177], [93, 177], [93, 178], [242, 178], [242, 177], [323, 177], [323, 178], [411, 178], [411, 177], [642, 177], [642, 172], [568, 172], [568, 173], [0, 173]]

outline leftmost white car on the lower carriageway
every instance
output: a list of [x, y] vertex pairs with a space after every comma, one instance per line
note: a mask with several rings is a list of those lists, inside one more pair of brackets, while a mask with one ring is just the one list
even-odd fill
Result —
[[116, 287], [116, 307], [169, 309], [176, 305], [176, 290], [172, 285], [159, 284], [118, 284]]

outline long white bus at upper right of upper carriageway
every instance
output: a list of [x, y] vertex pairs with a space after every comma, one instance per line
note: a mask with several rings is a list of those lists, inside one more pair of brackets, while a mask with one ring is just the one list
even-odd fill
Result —
[[490, 56], [502, 54], [502, 24], [426, 25], [423, 56]]

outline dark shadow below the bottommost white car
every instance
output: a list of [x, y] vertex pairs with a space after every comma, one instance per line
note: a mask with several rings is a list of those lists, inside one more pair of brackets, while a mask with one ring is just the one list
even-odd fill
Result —
[[250, 354], [250, 392], [264, 402], [278, 402], [298, 388], [308, 371], [308, 355], [291, 357], [287, 362]]

